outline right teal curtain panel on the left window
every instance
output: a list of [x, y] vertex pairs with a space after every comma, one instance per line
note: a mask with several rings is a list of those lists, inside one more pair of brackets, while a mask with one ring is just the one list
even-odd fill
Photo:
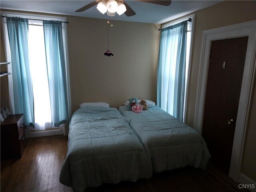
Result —
[[62, 22], [44, 20], [43, 25], [52, 126], [58, 127], [68, 120], [66, 64], [64, 58]]

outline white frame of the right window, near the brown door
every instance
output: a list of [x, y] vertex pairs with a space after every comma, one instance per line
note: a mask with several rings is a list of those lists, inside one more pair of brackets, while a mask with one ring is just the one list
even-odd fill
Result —
[[192, 19], [192, 22], [191, 22], [190, 52], [189, 52], [189, 56], [188, 56], [188, 70], [187, 70], [188, 73], [186, 74], [187, 81], [185, 82], [185, 94], [184, 94], [184, 106], [183, 106], [183, 122], [184, 123], [187, 122], [187, 115], [186, 114], [187, 114], [187, 109], [188, 109], [188, 89], [189, 89], [189, 85], [190, 85], [190, 66], [191, 66], [191, 55], [192, 55], [193, 41], [194, 41], [195, 17], [196, 17], [196, 14], [192, 14], [192, 15], [189, 15], [189, 16], [179, 18], [177, 20], [172, 20], [172, 21], [162, 25], [162, 28], [166, 28], [168, 26], [171, 26], [171, 25], [180, 23], [182, 21], [188, 20], [189, 18]]

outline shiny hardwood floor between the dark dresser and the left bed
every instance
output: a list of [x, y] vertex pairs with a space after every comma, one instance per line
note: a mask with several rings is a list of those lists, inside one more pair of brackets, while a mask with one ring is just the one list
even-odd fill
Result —
[[69, 192], [59, 182], [67, 151], [66, 136], [27, 139], [19, 160], [1, 161], [1, 192]]

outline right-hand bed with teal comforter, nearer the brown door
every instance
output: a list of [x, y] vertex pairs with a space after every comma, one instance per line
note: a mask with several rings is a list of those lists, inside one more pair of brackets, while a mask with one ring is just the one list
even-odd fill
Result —
[[158, 106], [136, 114], [119, 107], [130, 119], [130, 126], [151, 157], [153, 171], [158, 173], [185, 166], [205, 169], [210, 159], [207, 145], [193, 128], [180, 122]]

